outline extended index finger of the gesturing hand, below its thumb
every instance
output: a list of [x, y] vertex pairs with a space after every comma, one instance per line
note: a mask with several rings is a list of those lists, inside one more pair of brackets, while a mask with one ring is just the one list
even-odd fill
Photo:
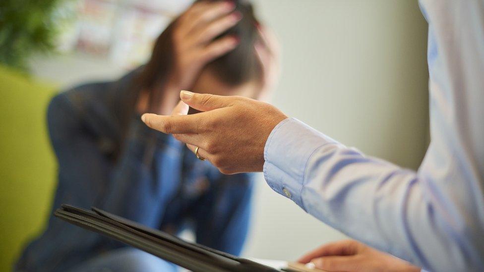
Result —
[[201, 133], [206, 113], [200, 112], [190, 115], [167, 116], [154, 113], [145, 113], [141, 120], [150, 128], [165, 134]]

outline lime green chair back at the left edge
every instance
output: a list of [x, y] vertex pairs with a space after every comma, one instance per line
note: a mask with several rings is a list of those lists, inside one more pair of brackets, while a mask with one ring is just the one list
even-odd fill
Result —
[[0, 66], [0, 271], [46, 225], [57, 183], [46, 109], [57, 91]]

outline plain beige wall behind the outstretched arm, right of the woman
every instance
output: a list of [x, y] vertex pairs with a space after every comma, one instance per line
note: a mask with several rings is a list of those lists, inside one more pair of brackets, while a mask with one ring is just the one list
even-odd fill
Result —
[[[417, 0], [257, 0], [280, 38], [273, 103], [338, 141], [411, 168], [426, 147], [426, 22]], [[344, 236], [260, 178], [246, 256], [295, 259]]]

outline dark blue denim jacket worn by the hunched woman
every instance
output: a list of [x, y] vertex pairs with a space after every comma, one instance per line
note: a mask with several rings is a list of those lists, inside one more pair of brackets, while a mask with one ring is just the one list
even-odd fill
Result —
[[[113, 159], [121, 137], [113, 105], [127, 94], [134, 74], [85, 84], [52, 99], [48, 127], [59, 163], [53, 211], [62, 203], [95, 206], [172, 234], [189, 227], [197, 243], [240, 254], [252, 175], [221, 174], [172, 136], [146, 127], [139, 116], [132, 116], [124, 148]], [[150, 139], [156, 141], [154, 151], [148, 148]], [[122, 246], [51, 214], [47, 229], [26, 247], [15, 269], [66, 271]]]

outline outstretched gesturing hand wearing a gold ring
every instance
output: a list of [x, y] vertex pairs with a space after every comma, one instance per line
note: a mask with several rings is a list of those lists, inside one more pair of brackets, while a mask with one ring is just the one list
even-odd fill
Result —
[[183, 116], [146, 113], [142, 120], [151, 128], [173, 134], [193, 152], [199, 147], [198, 154], [224, 174], [262, 171], [265, 143], [272, 129], [287, 118], [284, 113], [244, 97], [182, 91], [181, 98], [205, 112]]

